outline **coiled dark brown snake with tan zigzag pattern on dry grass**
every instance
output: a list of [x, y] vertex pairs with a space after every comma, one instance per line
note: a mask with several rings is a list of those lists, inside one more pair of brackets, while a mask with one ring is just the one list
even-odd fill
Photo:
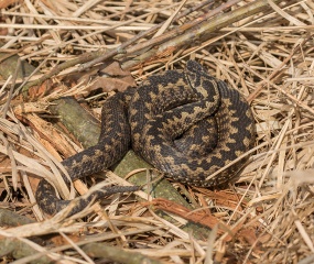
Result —
[[[226, 82], [195, 61], [185, 70], [166, 70], [149, 77], [138, 88], [109, 97], [101, 111], [97, 145], [63, 161], [72, 180], [112, 166], [132, 145], [167, 177], [183, 184], [213, 187], [230, 180], [246, 158], [208, 176], [235, 161], [253, 145], [255, 122], [248, 102]], [[64, 177], [66, 183], [68, 179]], [[139, 186], [113, 186], [79, 199], [71, 215], [90, 201]], [[69, 201], [59, 199], [45, 179], [36, 190], [40, 208], [54, 215]]]

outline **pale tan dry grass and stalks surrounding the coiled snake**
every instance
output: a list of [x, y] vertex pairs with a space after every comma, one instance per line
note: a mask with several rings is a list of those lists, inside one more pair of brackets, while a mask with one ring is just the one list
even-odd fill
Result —
[[[260, 2], [268, 9], [236, 19], [231, 15], [240, 7], [248, 12], [249, 3]], [[0, 1], [1, 55], [18, 54], [37, 67], [31, 80], [44, 79], [57, 65], [64, 68], [53, 72], [45, 86], [30, 90], [29, 96], [35, 99], [29, 103], [18, 96], [20, 88], [25, 90], [23, 80], [13, 70], [1, 73], [0, 207], [18, 213], [6, 220], [8, 212], [1, 211], [3, 263], [12, 256], [20, 258], [17, 263], [42, 256], [62, 263], [100, 263], [95, 256], [121, 263], [148, 258], [156, 263], [314, 262], [314, 1], [234, 0], [225, 6], [220, 1], [163, 0], [8, 3]], [[215, 14], [209, 10], [218, 14], [214, 22], [205, 20], [190, 30], [193, 23]], [[176, 12], [182, 14], [180, 19], [174, 18]], [[202, 37], [196, 40], [198, 33]], [[148, 204], [126, 196], [110, 197], [98, 209], [87, 208], [79, 216], [65, 218], [59, 213], [43, 220], [35, 206], [36, 183], [31, 175], [59, 175], [59, 153], [67, 156], [80, 150], [68, 134], [45, 127], [51, 121], [45, 120], [47, 108], [52, 99], [64, 95], [93, 101], [86, 82], [73, 79], [72, 86], [66, 86], [61, 79], [94, 66], [91, 58], [80, 55], [97, 51], [93, 58], [115, 56], [138, 82], [163, 68], [183, 68], [188, 58], [195, 58], [247, 97], [255, 113], [257, 139], [239, 180], [218, 193], [186, 190], [178, 185], [194, 212], [201, 208], [229, 230], [214, 228], [202, 239], [182, 229], [188, 213], [184, 213], [185, 219], [171, 215], [175, 219], [171, 222]], [[85, 75], [93, 77], [93, 73]], [[13, 90], [12, 81], [22, 86]], [[51, 90], [43, 95], [46, 87]], [[61, 150], [47, 140], [50, 136], [54, 142], [65, 139], [68, 147]], [[13, 190], [20, 190], [19, 195]], [[148, 199], [145, 194], [139, 195]], [[18, 216], [39, 222], [20, 226], [24, 220], [15, 220]], [[56, 234], [53, 239], [43, 239], [46, 244], [31, 239], [52, 233]], [[10, 250], [6, 248], [9, 244]], [[20, 253], [21, 249], [26, 253]]]

